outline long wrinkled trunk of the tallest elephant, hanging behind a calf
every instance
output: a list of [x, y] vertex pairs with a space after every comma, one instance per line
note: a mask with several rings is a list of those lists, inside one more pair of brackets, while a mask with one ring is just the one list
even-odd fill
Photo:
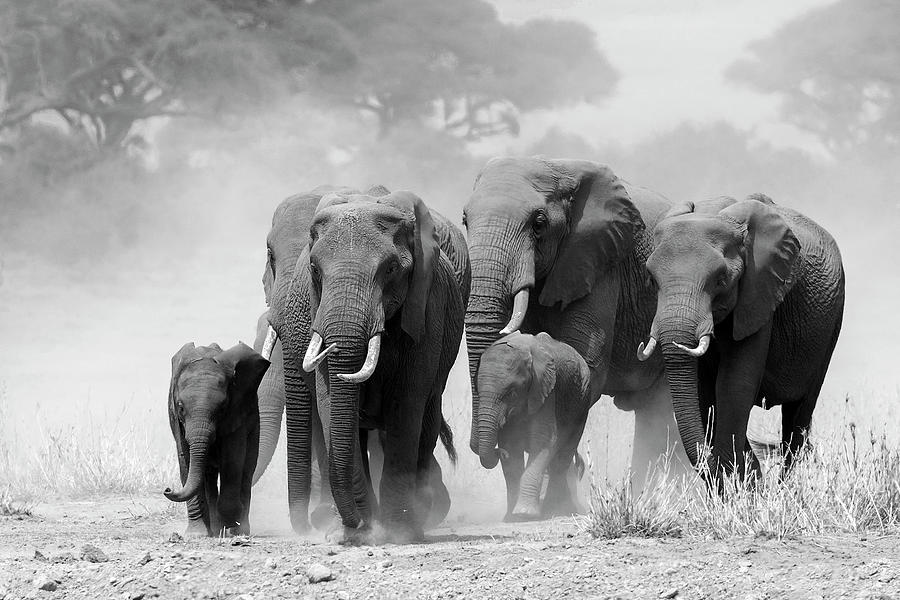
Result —
[[[514, 298], [518, 295], [521, 314], [522, 290], [534, 287], [534, 250], [530, 242], [513, 228], [489, 223], [470, 232], [469, 260], [472, 265], [472, 289], [466, 307], [466, 350], [472, 384], [472, 428], [469, 447], [476, 454], [478, 429], [478, 367], [484, 351], [510, 326]], [[527, 302], [526, 302], [527, 304]]]

